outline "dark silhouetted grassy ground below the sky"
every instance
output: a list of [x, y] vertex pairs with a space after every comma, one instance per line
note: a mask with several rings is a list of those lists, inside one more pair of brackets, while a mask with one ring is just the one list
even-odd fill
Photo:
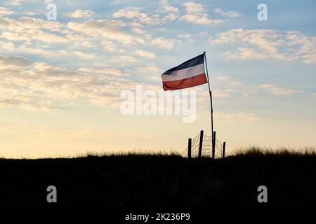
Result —
[[[176, 153], [88, 153], [78, 158], [0, 159], [0, 209], [315, 209], [315, 148], [252, 147], [224, 159]], [[46, 202], [46, 188], [58, 203]], [[257, 201], [267, 186], [268, 203]]]

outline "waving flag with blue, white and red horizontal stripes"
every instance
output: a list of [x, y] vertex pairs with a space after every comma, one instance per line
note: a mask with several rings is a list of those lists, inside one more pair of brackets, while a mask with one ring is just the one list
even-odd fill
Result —
[[207, 83], [204, 71], [204, 54], [194, 57], [162, 73], [164, 90], [180, 90]]

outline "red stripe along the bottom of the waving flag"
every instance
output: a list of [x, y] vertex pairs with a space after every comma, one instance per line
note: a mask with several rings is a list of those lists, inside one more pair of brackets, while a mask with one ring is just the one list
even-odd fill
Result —
[[196, 85], [202, 85], [204, 83], [207, 83], [205, 73], [181, 80], [162, 82], [164, 90], [180, 90], [188, 87], [193, 87]]

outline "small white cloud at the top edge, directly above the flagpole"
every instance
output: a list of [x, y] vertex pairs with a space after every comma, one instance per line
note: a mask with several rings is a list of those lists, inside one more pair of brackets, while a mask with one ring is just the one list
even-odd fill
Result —
[[186, 8], [186, 14], [180, 17], [180, 20], [199, 25], [224, 22], [224, 20], [211, 20], [207, 14], [207, 10], [200, 3], [190, 1], [183, 3], [183, 6]]

